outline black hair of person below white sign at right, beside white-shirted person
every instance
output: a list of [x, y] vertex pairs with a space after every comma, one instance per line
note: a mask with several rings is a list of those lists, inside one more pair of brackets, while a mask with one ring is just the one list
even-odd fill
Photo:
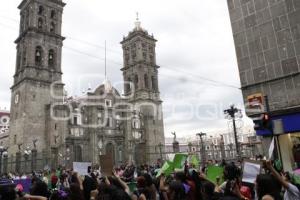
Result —
[[281, 185], [270, 174], [259, 174], [256, 177], [256, 192], [258, 200], [264, 195], [271, 195], [275, 200], [280, 199]]

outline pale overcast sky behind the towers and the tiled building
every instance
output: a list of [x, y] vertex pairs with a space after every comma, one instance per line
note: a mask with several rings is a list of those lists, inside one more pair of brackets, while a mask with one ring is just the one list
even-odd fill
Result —
[[[0, 7], [0, 107], [9, 108], [19, 27], [18, 4]], [[165, 134], [228, 131], [223, 110], [242, 108], [242, 94], [226, 0], [65, 0], [62, 70], [69, 95], [103, 82], [104, 41], [108, 77], [121, 90], [120, 41], [141, 25], [158, 40], [159, 87]], [[214, 80], [212, 82], [209, 80]], [[245, 119], [244, 125], [250, 125]], [[242, 126], [242, 125], [241, 125]]]

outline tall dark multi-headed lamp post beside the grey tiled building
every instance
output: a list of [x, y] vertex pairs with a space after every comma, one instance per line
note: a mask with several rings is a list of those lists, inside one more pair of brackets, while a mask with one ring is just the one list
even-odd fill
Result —
[[241, 158], [241, 153], [240, 153], [240, 148], [239, 148], [239, 143], [238, 143], [238, 138], [237, 138], [235, 119], [237, 117], [241, 118], [242, 112], [241, 112], [241, 109], [238, 109], [238, 108], [234, 107], [234, 105], [231, 105], [229, 109], [224, 110], [224, 114], [228, 119], [232, 120], [236, 154], [237, 154], [237, 158], [239, 160]]

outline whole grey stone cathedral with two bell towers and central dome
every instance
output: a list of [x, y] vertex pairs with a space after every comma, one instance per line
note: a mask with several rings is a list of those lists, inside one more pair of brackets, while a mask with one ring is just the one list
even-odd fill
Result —
[[72, 167], [75, 161], [103, 166], [162, 159], [156, 39], [137, 20], [121, 41], [124, 94], [105, 78], [84, 97], [67, 98], [61, 66], [64, 6], [62, 0], [23, 0], [18, 6], [21, 20], [7, 144], [13, 168], [22, 168], [24, 152], [31, 169]]

